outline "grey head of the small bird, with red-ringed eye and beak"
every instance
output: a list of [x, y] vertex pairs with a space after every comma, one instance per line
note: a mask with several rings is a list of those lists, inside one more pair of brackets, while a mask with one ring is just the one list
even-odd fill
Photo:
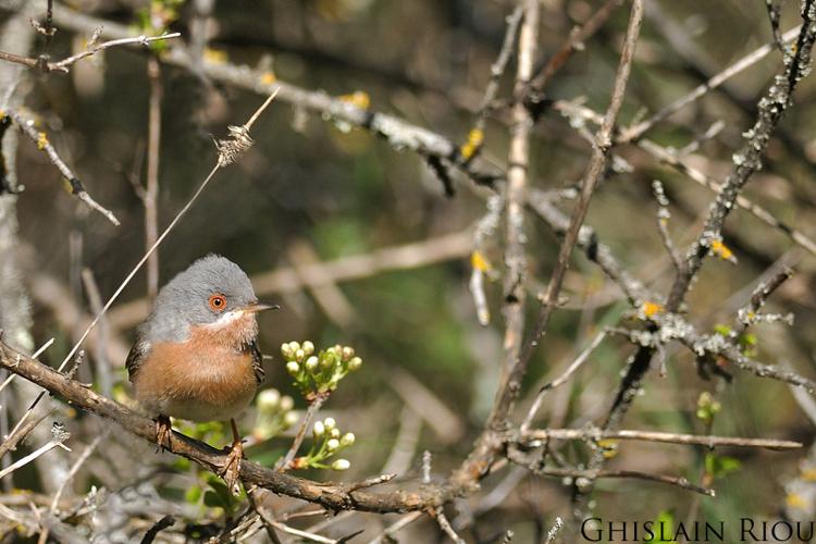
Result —
[[235, 312], [264, 308], [240, 267], [208, 255], [161, 288], [139, 332], [148, 342], [183, 342], [189, 337], [191, 325], [212, 324]]

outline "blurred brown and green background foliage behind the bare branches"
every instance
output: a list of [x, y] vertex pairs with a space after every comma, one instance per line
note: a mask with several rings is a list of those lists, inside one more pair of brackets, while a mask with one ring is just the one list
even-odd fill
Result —
[[[146, 18], [151, 7], [144, 1], [65, 3], [134, 27], [157, 24]], [[191, 2], [172, 3], [177, 4], [172, 7], [177, 13], [160, 23], [187, 34]], [[655, 0], [647, 4], [622, 125], [644, 111], [659, 110], [770, 39], [761, 0]], [[596, 0], [545, 0], [539, 62], [556, 51], [570, 28], [599, 5]], [[218, 1], [208, 24], [206, 58], [264, 66], [274, 77], [333, 95], [364, 92], [356, 100], [369, 101], [373, 110], [394, 113], [463, 141], [511, 8], [511, 2], [499, 0]], [[796, 9], [796, 2], [786, 4], [783, 29], [798, 24]], [[549, 85], [549, 97], [584, 97], [586, 106], [605, 109], [627, 15], [627, 9], [617, 11], [609, 24], [584, 44], [585, 50], [576, 53]], [[85, 38], [58, 32], [50, 46], [51, 57], [70, 54]], [[712, 123], [725, 122], [725, 128], [690, 158], [697, 168], [722, 180], [730, 171], [731, 153], [740, 144], [741, 133], [753, 122], [756, 100], [780, 65], [779, 52], [771, 53], [721, 89], [658, 124], [648, 137], [664, 146], [682, 148]], [[503, 79], [503, 96], [507, 96], [512, 67], [508, 72]], [[163, 226], [214, 163], [212, 137], [223, 137], [227, 124], [247, 119], [261, 97], [166, 66], [161, 70], [161, 84], [159, 217]], [[813, 235], [815, 90], [812, 79], [798, 89], [793, 113], [782, 122], [769, 147], [766, 169], [754, 177], [745, 194]], [[35, 301], [34, 336], [38, 343], [49, 336], [58, 338], [42, 359], [59, 363], [83, 326], [66, 323], [54, 308], [64, 301], [88, 307], [78, 271], [92, 270], [107, 297], [144, 252], [144, 209], [133, 181], [143, 183], [145, 171], [149, 95], [146, 53], [109, 50], [77, 64], [67, 76], [35, 75], [18, 92], [25, 94], [25, 106], [49, 131], [51, 141], [88, 190], [122, 220], [122, 226], [113, 227], [100, 215], [89, 213], [61, 189], [59, 174], [45, 156], [28, 143], [22, 146], [17, 168], [25, 191], [17, 207], [22, 239], [29, 249], [26, 282]], [[297, 268], [309, 259], [327, 261], [467, 232], [485, 212], [482, 194], [470, 182], [456, 180], [456, 195], [447, 198], [420, 157], [394, 150], [362, 129], [327, 123], [273, 102], [252, 134], [256, 146], [236, 165], [218, 174], [161, 246], [161, 284], [208, 252], [228, 257], [250, 275], [262, 274], [282, 267]], [[507, 143], [506, 114], [499, 111], [487, 125], [484, 156], [504, 164]], [[712, 194], [632, 146], [618, 151], [634, 169], [605, 182], [594, 197], [588, 223], [634, 275], [665, 292], [672, 269], [655, 227], [651, 182], [658, 178], [666, 185], [672, 212], [670, 231], [680, 247], [697, 235]], [[580, 180], [588, 156], [589, 146], [569, 122], [555, 111], [545, 111], [534, 134], [532, 185], [546, 189], [571, 186]], [[558, 239], [534, 217], [528, 221], [529, 287], [534, 294], [548, 279]], [[756, 350], [759, 360], [791, 364], [813, 375], [813, 256], [741, 212], [729, 220], [725, 242], [739, 264], [715, 259], [706, 263], [688, 298], [689, 319], [707, 331], [718, 323], [732, 323], [735, 309], [744, 302], [745, 289], [750, 294], [757, 275], [783, 256], [795, 259], [798, 274], [772, 297], [771, 307], [794, 312], [796, 324], [757, 326]], [[487, 251], [492, 265], [499, 271], [500, 247], [499, 232]], [[500, 282], [492, 282], [487, 287], [492, 322], [487, 327], [477, 323], [467, 288], [469, 274], [466, 248], [444, 262], [337, 284], [338, 290], [331, 296], [298, 288], [264, 297], [284, 308], [261, 317], [261, 347], [273, 355], [267, 361], [267, 384], [293, 396], [295, 409], [305, 405], [283, 368], [277, 348], [281, 343], [307, 338], [319, 345], [341, 342], [355, 346], [366, 361], [361, 371], [344, 381], [324, 409], [357, 436], [347, 452], [351, 468], [343, 478], [380, 472], [405, 426], [404, 407], [413, 411], [423, 405], [424, 397], [416, 396], [416, 383], [426, 391], [422, 394], [432, 395], [446, 407], [442, 416], [449, 416], [453, 422], [447, 428], [434, 426], [438, 421], [433, 421], [433, 412], [430, 418], [419, 413], [428, 419], [422, 419], [418, 443], [406, 467], [408, 474], [418, 473], [423, 449], [434, 454], [433, 470], [438, 474], [455, 467], [470, 450], [471, 438], [495, 392], [503, 320]], [[40, 295], [37, 282], [44, 277], [58, 282], [67, 298]], [[570, 301], [556, 313], [535, 354], [524, 384], [528, 390], [557, 375], [601, 326], [627, 319], [626, 300], [582, 255], [574, 257], [565, 290]], [[144, 296], [140, 274], [121, 301]], [[534, 301], [529, 312], [532, 319]], [[125, 341], [132, 339], [135, 325], [134, 318], [128, 319], [123, 321], [127, 326], [114, 330]], [[540, 423], [581, 426], [602, 419], [631, 353], [631, 346], [620, 339], [604, 342], [569, 386], [548, 398]], [[92, 359], [94, 354], [89, 357]], [[121, 394], [126, 396], [123, 362], [124, 358], [110, 364], [123, 384]], [[647, 380], [627, 418], [627, 428], [694, 433], [710, 430], [722, 435], [811, 443], [813, 425], [800, 413], [787, 386], [739, 372], [730, 385], [703, 381], [696, 375], [692, 357], [678, 349], [669, 350], [666, 366], [666, 378], [653, 373]], [[89, 373], [92, 368], [83, 367], [84, 380], [94, 381]], [[720, 404], [721, 409], [709, 420], [697, 417], [701, 392], [713, 393]], [[521, 408], [528, 403], [529, 398]], [[88, 419], [79, 413], [75, 417]], [[250, 413], [244, 421], [247, 433], [254, 417]], [[96, 429], [88, 421], [76, 425]], [[446, 435], [445, 429], [455, 432]], [[203, 431], [212, 431], [206, 437], [215, 446], [226, 440], [217, 428]], [[191, 473], [184, 461], [147, 455], [149, 446], [119, 434], [111, 438], [121, 440], [136, 453], [127, 453], [134, 462], [138, 459], [141, 465], [163, 467], [157, 469], [157, 478], [166, 482], [168, 496], [184, 496], [191, 477], [174, 475], [170, 470], [174, 467], [182, 474]], [[273, 441], [270, 447], [281, 453], [288, 440]], [[121, 450], [113, 445], [99, 455], [113, 456]], [[585, 458], [586, 450], [573, 444], [566, 445], [564, 454], [577, 461]], [[262, 452], [254, 454], [251, 448], [248, 455], [274, 461]], [[795, 474], [796, 463], [805, 455], [726, 450], [722, 456], [734, 460], [731, 462], [706, 459], [703, 449], [623, 443], [610, 455], [613, 468], [684, 474], [694, 482], [708, 473], [716, 477], [718, 496], [700, 498], [655, 483], [607, 480], [598, 482], [594, 494], [596, 510], [604, 518], [639, 520], [655, 519], [665, 511], [682, 520], [696, 508], [702, 509], [698, 516], [712, 520], [774, 517], [784, 500], [783, 482]], [[337, 477], [322, 472], [310, 475]], [[37, 487], [25, 478], [26, 473], [15, 474], [15, 485]], [[143, 479], [145, 472], [113, 470], [107, 480], [100, 475], [81, 480], [77, 490], [87, 490], [91, 483], [115, 490], [134, 484], [135, 480], [128, 478]], [[489, 478], [484, 489], [491, 490], [499, 479]], [[498, 508], [478, 520], [477, 533], [486, 539], [510, 528], [518, 542], [532, 542], [556, 515], [568, 511], [570, 491], [562, 484], [523, 477]], [[198, 496], [188, 495], [187, 499], [199, 502]], [[217, 503], [212, 497], [203, 499], [208, 506]], [[214, 518], [219, 511], [205, 515]], [[425, 530], [434, 528], [428, 526]]]

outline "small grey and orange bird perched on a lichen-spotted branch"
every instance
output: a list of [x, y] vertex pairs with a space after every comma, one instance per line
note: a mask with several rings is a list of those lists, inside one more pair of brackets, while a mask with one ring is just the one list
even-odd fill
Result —
[[257, 314], [276, 308], [258, 300], [240, 267], [210, 254], [161, 288], [125, 361], [160, 448], [172, 448], [170, 417], [230, 420], [233, 443], [220, 475], [231, 489], [244, 458], [235, 417], [264, 380]]

